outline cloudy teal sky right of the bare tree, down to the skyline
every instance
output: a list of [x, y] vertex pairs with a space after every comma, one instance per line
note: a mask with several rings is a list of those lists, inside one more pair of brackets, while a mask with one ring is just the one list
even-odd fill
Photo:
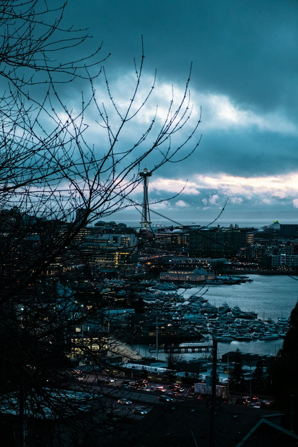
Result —
[[[188, 159], [165, 164], [151, 177], [149, 200], [165, 200], [151, 205], [151, 220], [205, 222], [229, 198], [223, 220], [298, 222], [296, 0], [70, 0], [67, 21], [89, 27], [90, 48], [103, 41], [101, 54], [111, 53], [104, 66], [113, 97], [123, 106], [135, 83], [134, 58], [139, 64], [143, 35], [139, 101], [156, 68], [155, 89], [122, 134], [124, 145], [139, 138], [156, 105], [160, 126], [172, 88], [178, 103], [192, 63], [192, 116], [172, 143], [179, 145], [189, 135], [200, 113], [197, 133], [181, 154], [201, 141]], [[102, 86], [96, 83], [100, 98]], [[96, 129], [93, 137], [104, 150]], [[155, 157], [156, 152], [148, 157], [149, 170]], [[133, 198], [142, 200], [138, 191]], [[139, 219], [134, 210], [121, 217]]]

